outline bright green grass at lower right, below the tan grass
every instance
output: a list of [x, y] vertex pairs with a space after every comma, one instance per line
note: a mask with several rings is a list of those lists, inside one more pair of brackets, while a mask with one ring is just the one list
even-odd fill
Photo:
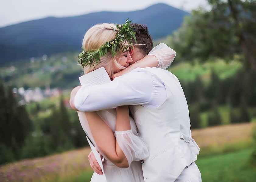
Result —
[[196, 161], [202, 181], [207, 182], [253, 182], [256, 179], [256, 167], [249, 167], [248, 161], [252, 149], [202, 157]]

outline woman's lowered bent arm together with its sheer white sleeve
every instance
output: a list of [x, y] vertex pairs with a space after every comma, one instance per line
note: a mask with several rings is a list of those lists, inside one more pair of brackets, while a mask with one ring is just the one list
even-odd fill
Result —
[[[116, 110], [115, 133], [96, 112], [86, 112], [86, 117], [97, 147], [117, 167], [127, 168], [132, 161], [148, 157], [149, 150], [138, 133], [131, 130], [128, 106], [118, 106]], [[99, 168], [99, 165], [96, 164], [93, 170], [95, 168]], [[99, 169], [95, 172], [101, 174]]]

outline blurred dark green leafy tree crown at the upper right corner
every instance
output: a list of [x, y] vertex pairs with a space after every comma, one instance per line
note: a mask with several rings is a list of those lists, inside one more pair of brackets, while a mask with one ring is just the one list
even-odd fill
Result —
[[[212, 9], [193, 10], [180, 29], [168, 38], [176, 59], [204, 62], [211, 57], [231, 60], [236, 54], [246, 69], [256, 70], [255, 1], [213, 1]], [[188, 51], [189, 50], [189, 51]]]

